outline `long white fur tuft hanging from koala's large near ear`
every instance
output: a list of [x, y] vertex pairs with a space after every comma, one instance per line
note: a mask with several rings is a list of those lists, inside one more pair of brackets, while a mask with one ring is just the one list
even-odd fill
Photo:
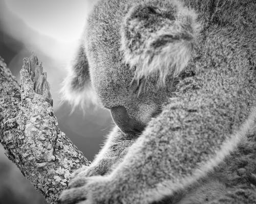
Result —
[[125, 63], [130, 64], [131, 67], [136, 67], [134, 78], [137, 81], [159, 72], [160, 84], [164, 84], [169, 73], [177, 77], [187, 66], [191, 57], [190, 47], [190, 43], [182, 40], [174, 44], [166, 44], [158, 54], [150, 54], [147, 49], [140, 55], [124, 52], [124, 59]]

